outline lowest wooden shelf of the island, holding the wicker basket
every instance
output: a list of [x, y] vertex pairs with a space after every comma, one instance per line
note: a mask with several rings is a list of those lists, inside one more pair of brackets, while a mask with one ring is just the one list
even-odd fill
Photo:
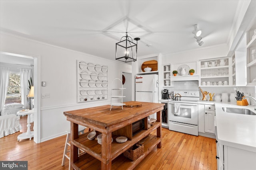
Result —
[[[113, 138], [114, 139], [114, 138]], [[124, 169], [133, 169], [137, 166], [156, 146], [161, 142], [160, 137], [156, 135], [149, 134], [145, 138], [144, 142], [144, 153], [137, 160], [132, 161], [126, 158], [123, 154], [118, 155], [112, 160], [112, 170], [124, 170]], [[113, 140], [114, 143], [114, 140]], [[124, 144], [124, 143], [119, 143]], [[113, 144], [112, 144], [113, 145]], [[122, 146], [120, 146], [122, 148]], [[100, 170], [101, 161], [94, 158], [88, 153], [85, 153], [78, 157], [78, 161], [73, 164], [75, 169], [86, 169], [86, 170]]]

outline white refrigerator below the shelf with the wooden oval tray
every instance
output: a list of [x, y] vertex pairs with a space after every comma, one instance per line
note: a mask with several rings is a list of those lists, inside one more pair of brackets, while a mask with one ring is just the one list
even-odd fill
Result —
[[[136, 75], [135, 78], [135, 101], [158, 103], [158, 75]], [[156, 113], [150, 115], [156, 119]]]

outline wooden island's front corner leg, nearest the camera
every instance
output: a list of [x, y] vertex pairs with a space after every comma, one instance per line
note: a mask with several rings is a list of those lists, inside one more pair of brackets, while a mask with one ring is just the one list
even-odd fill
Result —
[[101, 156], [104, 160], [106, 160], [106, 164], [104, 162], [101, 162], [102, 170], [111, 170], [111, 139], [112, 133], [102, 133]]

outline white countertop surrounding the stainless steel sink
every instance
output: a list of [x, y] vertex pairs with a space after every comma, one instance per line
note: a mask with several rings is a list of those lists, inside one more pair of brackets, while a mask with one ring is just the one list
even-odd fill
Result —
[[222, 145], [256, 152], [256, 115], [227, 113], [222, 107], [250, 109], [254, 106], [215, 103], [218, 142]]

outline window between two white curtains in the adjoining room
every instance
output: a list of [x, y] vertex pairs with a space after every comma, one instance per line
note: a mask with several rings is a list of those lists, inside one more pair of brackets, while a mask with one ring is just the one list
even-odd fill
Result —
[[9, 73], [9, 83], [4, 104], [21, 103], [20, 72]]

